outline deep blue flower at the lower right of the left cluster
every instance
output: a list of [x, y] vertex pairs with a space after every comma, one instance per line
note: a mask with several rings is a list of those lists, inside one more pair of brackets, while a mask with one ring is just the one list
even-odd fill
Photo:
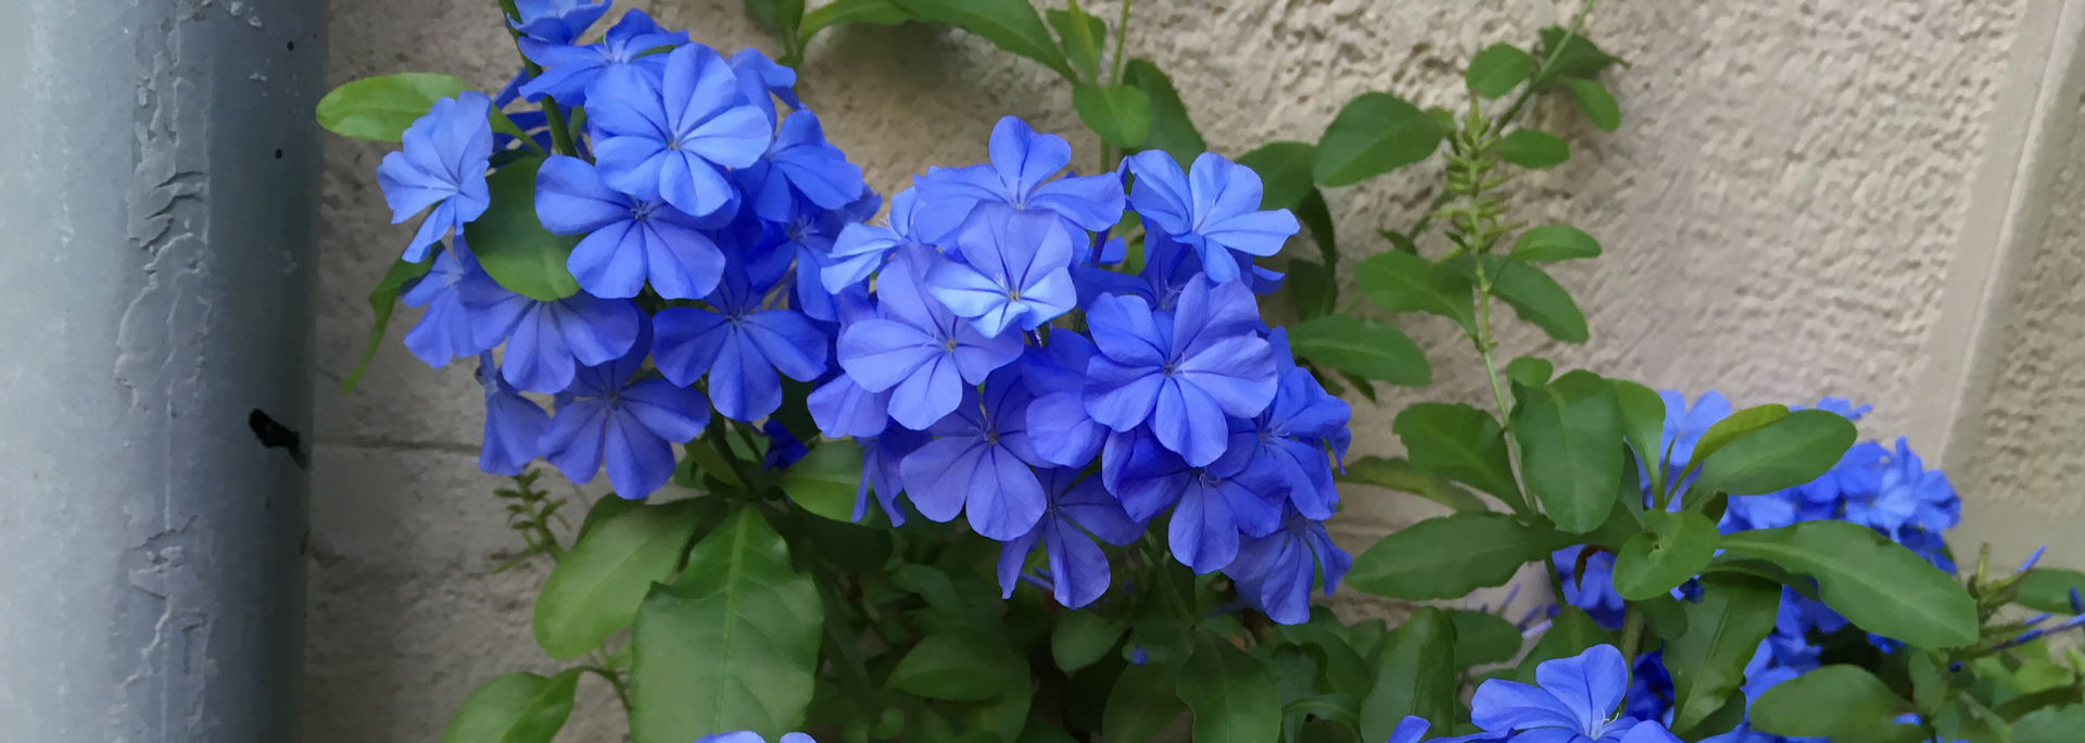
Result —
[[709, 374], [709, 401], [730, 420], [759, 420], [782, 407], [782, 380], [817, 380], [826, 374], [828, 338], [792, 309], [761, 307], [759, 290], [742, 261], [723, 271], [709, 307], [671, 307], [653, 321], [659, 372], [673, 384], [694, 384]]

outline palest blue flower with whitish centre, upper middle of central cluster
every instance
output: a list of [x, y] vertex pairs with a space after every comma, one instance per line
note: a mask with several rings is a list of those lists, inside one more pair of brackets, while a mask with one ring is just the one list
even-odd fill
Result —
[[938, 261], [926, 286], [986, 336], [1036, 330], [1072, 311], [1072, 238], [1057, 217], [982, 205], [955, 236], [965, 263]]

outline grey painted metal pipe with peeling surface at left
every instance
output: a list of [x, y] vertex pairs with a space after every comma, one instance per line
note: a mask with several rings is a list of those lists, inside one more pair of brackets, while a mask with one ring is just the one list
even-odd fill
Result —
[[0, 23], [0, 739], [290, 741], [323, 0]]

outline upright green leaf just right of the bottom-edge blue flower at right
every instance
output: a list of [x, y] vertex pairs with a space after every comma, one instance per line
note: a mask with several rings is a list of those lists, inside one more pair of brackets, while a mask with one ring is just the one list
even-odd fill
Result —
[[[1716, 526], [1710, 524], [1710, 534], [1714, 532]], [[1701, 578], [1701, 601], [1681, 601], [1687, 632], [1666, 637], [1664, 653], [1672, 672], [1674, 728], [1708, 720], [1745, 685], [1745, 664], [1774, 630], [1779, 607], [1781, 586], [1737, 576]]]

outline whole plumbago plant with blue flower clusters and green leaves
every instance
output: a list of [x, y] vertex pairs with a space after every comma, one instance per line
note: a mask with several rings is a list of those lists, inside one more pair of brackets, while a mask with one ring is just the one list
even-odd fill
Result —
[[[1997, 609], [2079, 614], [2085, 576], [1935, 570], [1952, 490], [1922, 501], [1916, 459], [1883, 474], [1912, 478], [1910, 516], [1772, 507], [1872, 463], [1849, 407], [1706, 415], [1499, 363], [1495, 301], [1587, 340], [1543, 265], [1597, 240], [1512, 223], [1507, 196], [1514, 169], [1570, 157], [1516, 123], [1532, 102], [1620, 123], [1591, 6], [1480, 50], [1462, 113], [1364, 94], [1318, 142], [1232, 163], [1128, 58], [1128, 4], [1109, 27], [1076, 2], [749, 2], [782, 63], [838, 23], [984, 35], [1072, 81], [1105, 144], [1068, 171], [1063, 138], [1005, 119], [988, 163], [888, 205], [790, 67], [640, 10], [596, 35], [607, 10], [502, 2], [521, 69], [490, 96], [398, 73], [319, 104], [332, 131], [402, 142], [377, 177], [394, 221], [425, 213], [371, 292], [371, 353], [402, 301], [425, 307], [415, 357], [477, 357], [480, 465], [515, 478], [498, 497], [525, 543], [509, 566], [553, 564], [534, 634], [565, 670], [486, 680], [444, 741], [550, 741], [582, 674], [638, 743], [1143, 743], [1188, 716], [1199, 741], [2054, 741], [2081, 714], [2079, 657], [2041, 645], [2079, 620]], [[1345, 269], [1324, 188], [1437, 154], [1428, 215]], [[1255, 261], [1305, 227], [1314, 259]], [[1255, 294], [1280, 288], [1297, 321], [1270, 328]], [[1495, 409], [1405, 407], [1407, 459], [1347, 461], [1334, 394], [1432, 378], [1362, 296], [1462, 328]], [[615, 497], [571, 528], [536, 459]], [[1341, 480], [1455, 516], [1349, 557], [1324, 532]], [[1309, 605], [1343, 578], [1460, 599], [1551, 559], [1555, 603], [1520, 626]]]

